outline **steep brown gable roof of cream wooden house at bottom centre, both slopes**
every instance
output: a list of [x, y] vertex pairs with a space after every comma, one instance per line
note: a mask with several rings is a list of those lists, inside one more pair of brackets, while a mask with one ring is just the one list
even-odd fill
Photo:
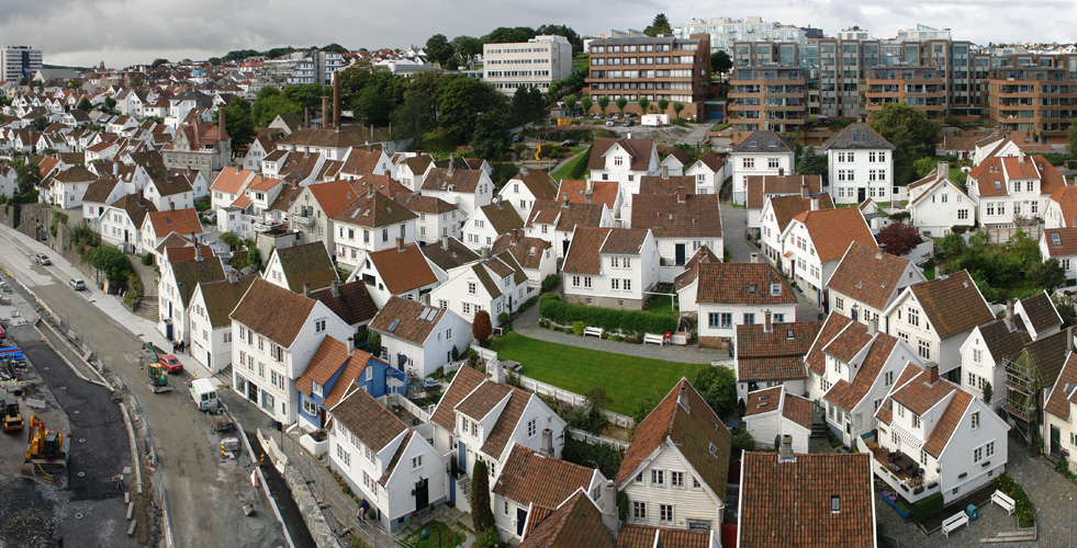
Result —
[[[682, 398], [685, 398], [687, 406], [680, 402]], [[647, 419], [636, 426], [631, 445], [617, 472], [617, 483], [624, 484], [630, 480], [636, 469], [669, 439], [672, 447], [676, 447], [702, 476], [703, 482], [723, 501], [731, 438], [721, 419], [687, 379], [682, 378]]]

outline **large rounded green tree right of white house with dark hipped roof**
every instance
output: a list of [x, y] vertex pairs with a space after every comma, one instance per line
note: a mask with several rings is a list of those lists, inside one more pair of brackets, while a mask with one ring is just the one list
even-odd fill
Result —
[[939, 141], [939, 124], [905, 103], [886, 103], [872, 114], [868, 124], [896, 147], [894, 181], [905, 185], [916, 181], [915, 162], [934, 151]]

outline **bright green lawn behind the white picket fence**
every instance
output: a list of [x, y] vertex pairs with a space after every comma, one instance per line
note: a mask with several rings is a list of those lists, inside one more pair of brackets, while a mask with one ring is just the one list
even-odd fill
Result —
[[706, 364], [682, 364], [627, 356], [508, 333], [493, 344], [501, 359], [524, 364], [524, 375], [576, 393], [603, 387], [609, 410], [631, 414], [636, 402], [657, 390], [670, 391], [681, 377], [693, 378]]

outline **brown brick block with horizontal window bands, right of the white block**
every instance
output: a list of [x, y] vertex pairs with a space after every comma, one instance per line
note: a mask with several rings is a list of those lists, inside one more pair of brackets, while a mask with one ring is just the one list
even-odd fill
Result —
[[592, 98], [607, 95], [613, 104], [622, 96], [628, 100], [625, 111], [631, 113], [640, 113], [641, 96], [651, 105], [665, 99], [665, 114], [676, 115], [672, 105], [677, 102], [684, 105], [681, 117], [703, 116], [710, 85], [709, 35], [597, 38], [588, 47], [586, 93]]

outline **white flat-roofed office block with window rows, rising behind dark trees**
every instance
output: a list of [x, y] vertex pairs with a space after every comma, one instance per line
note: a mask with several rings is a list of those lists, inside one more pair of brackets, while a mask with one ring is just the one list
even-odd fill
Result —
[[512, 95], [516, 89], [538, 88], [550, 91], [550, 84], [572, 72], [572, 44], [564, 36], [540, 35], [527, 42], [484, 44], [483, 80], [497, 91]]

